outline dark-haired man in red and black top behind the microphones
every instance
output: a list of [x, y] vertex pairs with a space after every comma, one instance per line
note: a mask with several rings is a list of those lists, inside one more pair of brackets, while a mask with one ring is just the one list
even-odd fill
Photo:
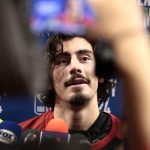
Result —
[[49, 92], [43, 102], [52, 109], [21, 123], [23, 130], [44, 130], [52, 118], [66, 121], [71, 134], [84, 134], [92, 149], [113, 149], [122, 141], [120, 120], [99, 111], [112, 83], [95, 74], [96, 42], [81, 36], [53, 34], [45, 54], [49, 62]]

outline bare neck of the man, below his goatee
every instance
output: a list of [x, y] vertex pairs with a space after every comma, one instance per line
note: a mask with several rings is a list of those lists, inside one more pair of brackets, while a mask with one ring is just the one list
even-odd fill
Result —
[[54, 118], [64, 119], [69, 129], [73, 130], [87, 130], [98, 115], [97, 100], [90, 101], [86, 106], [71, 106], [68, 103], [56, 102], [54, 108]]

